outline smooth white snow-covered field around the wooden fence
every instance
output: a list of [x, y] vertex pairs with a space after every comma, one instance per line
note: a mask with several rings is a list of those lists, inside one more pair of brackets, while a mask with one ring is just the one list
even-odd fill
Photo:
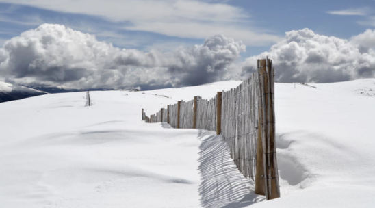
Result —
[[141, 121], [239, 84], [0, 103], [0, 207], [375, 207], [375, 79], [276, 83], [276, 200], [253, 193], [214, 132]]

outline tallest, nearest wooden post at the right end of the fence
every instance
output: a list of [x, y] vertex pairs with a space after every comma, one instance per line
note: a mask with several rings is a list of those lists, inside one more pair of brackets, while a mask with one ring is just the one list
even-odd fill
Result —
[[[267, 200], [280, 197], [279, 172], [276, 160], [274, 119], [274, 68], [272, 61], [258, 60], [259, 75], [259, 123], [263, 156], [264, 193]], [[259, 145], [259, 143], [258, 143]], [[259, 151], [258, 151], [259, 152]], [[257, 157], [260, 159], [261, 157]], [[258, 164], [258, 161], [257, 161]], [[257, 167], [258, 169], [258, 167]], [[259, 167], [260, 169], [260, 167]], [[258, 172], [257, 172], [258, 174]], [[256, 187], [257, 189], [257, 187]]]

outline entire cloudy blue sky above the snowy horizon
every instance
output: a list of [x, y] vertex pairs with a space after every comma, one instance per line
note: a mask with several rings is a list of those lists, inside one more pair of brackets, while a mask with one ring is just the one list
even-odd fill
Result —
[[142, 89], [375, 75], [375, 1], [0, 0], [0, 81]]

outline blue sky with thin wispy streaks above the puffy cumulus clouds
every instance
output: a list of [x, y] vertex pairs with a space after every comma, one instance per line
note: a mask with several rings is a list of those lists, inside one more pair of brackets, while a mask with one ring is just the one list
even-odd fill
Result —
[[[92, 11], [75, 9], [77, 5], [69, 6], [70, 1], [0, 1], [0, 42], [4, 42], [18, 36], [21, 32], [28, 29], [34, 29], [42, 23], [57, 23], [66, 25], [73, 29], [94, 34], [98, 40], [112, 42], [114, 46], [121, 48], [140, 49], [149, 51], [150, 49], [159, 49], [162, 51], [170, 51], [179, 46], [188, 46], [192, 44], [202, 44], [205, 33], [195, 36], [190, 31], [189, 34], [183, 35], [184, 31], [173, 32], [164, 31], [164, 27], [154, 26], [155, 23], [173, 23], [183, 27], [186, 25], [192, 27], [192, 30], [202, 30], [207, 25], [218, 25], [223, 27], [222, 34], [231, 37], [231, 34], [237, 31], [250, 31], [256, 33], [256, 36], [267, 34], [272, 36], [269, 40], [260, 40], [252, 42], [242, 40], [246, 46], [246, 53], [242, 53], [242, 58], [250, 55], [257, 55], [263, 51], [268, 51], [270, 46], [278, 39], [285, 35], [285, 31], [298, 30], [303, 28], [312, 29], [316, 34], [325, 36], [336, 36], [338, 38], [350, 38], [375, 26], [374, 3], [372, 0], [344, 0], [344, 1], [249, 1], [249, 0], [232, 0], [232, 1], [201, 1], [205, 6], [225, 5], [227, 8], [218, 8], [214, 15], [220, 16], [220, 20], [212, 20], [204, 15], [207, 8], [197, 11], [195, 19], [190, 19], [189, 12], [181, 14], [176, 18], [176, 14], [170, 14], [155, 18], [155, 16], [147, 16], [149, 10], [153, 10], [153, 3], [144, 2], [142, 5], [133, 5], [129, 3], [119, 4], [118, 7], [124, 7], [124, 12], [133, 10], [140, 14], [138, 17], [131, 18], [131, 15], [122, 16], [116, 14], [112, 16], [111, 12]], [[81, 1], [82, 5], [90, 3], [90, 1]], [[152, 1], [156, 2], [156, 1]], [[174, 1], [164, 1], [166, 4], [172, 4]], [[187, 1], [185, 1], [187, 2]], [[65, 5], [60, 8], [60, 5]], [[56, 4], [56, 5], [53, 5]], [[105, 1], [104, 3], [105, 4]], [[194, 6], [194, 5], [192, 5]], [[100, 5], [99, 5], [100, 7]], [[103, 5], [103, 8], [106, 6]], [[108, 5], [107, 10], [116, 7]], [[125, 7], [127, 9], [125, 9]], [[130, 7], [130, 8], [129, 8]], [[149, 8], [148, 8], [149, 7]], [[160, 10], [164, 7], [160, 6]], [[233, 10], [234, 8], [234, 10]], [[88, 8], [89, 10], [90, 8]], [[121, 9], [121, 8], [120, 8]], [[165, 8], [168, 9], [168, 8]], [[357, 11], [357, 15], [329, 14], [332, 11]], [[119, 12], [120, 13], [120, 12]], [[142, 17], [142, 15], [146, 17]], [[157, 14], [156, 14], [157, 15]], [[237, 16], [235, 16], [237, 15]], [[226, 18], [228, 16], [228, 22]], [[153, 19], [155, 18], [155, 19]], [[165, 18], [165, 19], [163, 19]], [[170, 21], [168, 18], [176, 18]], [[193, 25], [194, 23], [194, 25]], [[171, 25], [171, 24], [170, 24]], [[223, 26], [224, 25], [224, 26]], [[235, 25], [233, 31], [226, 34], [229, 26]], [[153, 29], [145, 29], [144, 27], [155, 27]], [[207, 27], [207, 30], [210, 28]], [[181, 30], [181, 28], [176, 28]], [[183, 30], [183, 29], [182, 29]], [[181, 35], [182, 34], [182, 35]], [[207, 33], [209, 34], [209, 33]], [[233, 37], [235, 40], [241, 40], [243, 37]], [[243, 38], [246, 39], [246, 38]]]

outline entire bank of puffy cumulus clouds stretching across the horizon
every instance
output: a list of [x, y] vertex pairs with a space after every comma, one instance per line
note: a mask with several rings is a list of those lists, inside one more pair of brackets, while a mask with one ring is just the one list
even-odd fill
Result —
[[137, 87], [143, 90], [245, 79], [258, 59], [273, 60], [276, 81], [335, 82], [375, 77], [375, 31], [350, 40], [289, 31], [270, 51], [239, 62], [241, 41], [223, 35], [172, 52], [120, 49], [64, 25], [44, 24], [4, 42], [0, 79], [28, 86]]

